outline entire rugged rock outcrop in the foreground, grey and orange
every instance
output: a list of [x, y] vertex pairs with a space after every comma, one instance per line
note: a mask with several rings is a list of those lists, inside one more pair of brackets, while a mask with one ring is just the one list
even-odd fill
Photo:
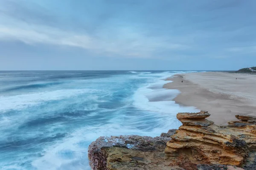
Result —
[[93, 170], [256, 170], [253, 116], [217, 126], [207, 111], [178, 113], [178, 130], [149, 136], [99, 137], [88, 149]]

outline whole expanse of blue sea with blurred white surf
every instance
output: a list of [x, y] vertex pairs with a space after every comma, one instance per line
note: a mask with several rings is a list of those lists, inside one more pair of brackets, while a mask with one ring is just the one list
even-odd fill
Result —
[[180, 126], [167, 77], [189, 71], [0, 71], [0, 169], [89, 170], [99, 136]]

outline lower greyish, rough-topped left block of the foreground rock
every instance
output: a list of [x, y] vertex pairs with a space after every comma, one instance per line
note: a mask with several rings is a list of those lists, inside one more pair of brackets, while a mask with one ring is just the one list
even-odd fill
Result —
[[[93, 170], [170, 170], [163, 150], [176, 130], [155, 138], [149, 136], [99, 137], [88, 149]], [[173, 166], [172, 170], [183, 170]]]

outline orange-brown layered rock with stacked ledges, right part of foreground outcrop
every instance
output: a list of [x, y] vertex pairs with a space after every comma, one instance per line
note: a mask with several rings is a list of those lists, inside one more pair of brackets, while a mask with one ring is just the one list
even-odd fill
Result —
[[[207, 111], [178, 113], [182, 126], [167, 142], [165, 152], [173, 160], [172, 165], [226, 164], [241, 166], [250, 151], [256, 148], [256, 125], [250, 116], [236, 116], [241, 121], [229, 122], [219, 127], [205, 118]], [[254, 155], [252, 155], [254, 156]]]

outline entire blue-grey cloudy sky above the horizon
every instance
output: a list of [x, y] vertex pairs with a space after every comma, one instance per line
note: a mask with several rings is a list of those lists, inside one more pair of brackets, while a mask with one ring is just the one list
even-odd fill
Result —
[[0, 0], [0, 70], [256, 66], [256, 0]]

